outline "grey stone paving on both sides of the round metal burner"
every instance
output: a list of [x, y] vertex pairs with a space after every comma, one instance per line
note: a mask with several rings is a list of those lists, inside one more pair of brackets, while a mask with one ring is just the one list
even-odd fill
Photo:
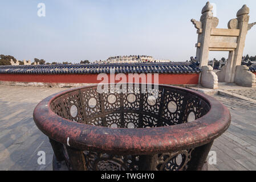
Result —
[[[34, 124], [32, 112], [40, 100], [62, 88], [0, 86], [0, 170], [51, 170], [52, 149]], [[214, 96], [231, 112], [229, 129], [214, 141], [217, 164], [210, 170], [256, 170], [256, 105]], [[46, 165], [37, 164], [38, 151]]]

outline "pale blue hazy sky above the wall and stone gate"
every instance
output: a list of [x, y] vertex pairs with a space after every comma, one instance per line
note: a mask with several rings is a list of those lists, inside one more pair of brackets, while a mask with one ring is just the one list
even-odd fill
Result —
[[[37, 15], [45, 3], [46, 17]], [[256, 22], [255, 0], [210, 1], [217, 5], [218, 28], [250, 7]], [[0, 54], [19, 60], [105, 60], [117, 55], [151, 55], [156, 59], [186, 61], [196, 54], [196, 29], [206, 1], [197, 0], [1, 0]], [[256, 27], [247, 34], [244, 55], [256, 55]], [[211, 52], [210, 59], [227, 57]]]

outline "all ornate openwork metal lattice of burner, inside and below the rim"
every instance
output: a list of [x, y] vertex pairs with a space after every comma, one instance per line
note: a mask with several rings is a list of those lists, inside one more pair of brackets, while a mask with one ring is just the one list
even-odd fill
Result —
[[[51, 109], [70, 121], [113, 129], [180, 125], [193, 122], [210, 110], [210, 105], [201, 97], [168, 86], [147, 88], [133, 84], [124, 87], [124, 93], [112, 90], [111, 86], [106, 93], [97, 92], [96, 86], [75, 90], [55, 99]], [[66, 147], [64, 144], [63, 155], [68, 168], [72, 169]], [[188, 168], [193, 150], [187, 148], [147, 156], [83, 151], [83, 158], [88, 170], [140, 170], [151, 161], [148, 166], [151, 170], [176, 171]]]

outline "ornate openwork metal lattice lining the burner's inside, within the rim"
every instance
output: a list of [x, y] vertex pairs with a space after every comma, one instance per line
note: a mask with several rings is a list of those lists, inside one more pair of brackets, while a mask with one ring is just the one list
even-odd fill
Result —
[[124, 93], [97, 92], [89, 87], [54, 101], [52, 110], [61, 117], [89, 125], [116, 128], [159, 127], [192, 122], [210, 107], [204, 100], [181, 90], [146, 85], [125, 85]]

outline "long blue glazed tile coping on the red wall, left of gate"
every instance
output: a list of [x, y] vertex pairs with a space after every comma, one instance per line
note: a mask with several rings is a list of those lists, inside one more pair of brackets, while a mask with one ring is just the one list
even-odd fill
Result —
[[87, 74], [87, 73], [200, 73], [196, 63], [137, 63], [137, 64], [72, 64], [0, 66], [0, 73], [13, 74]]

